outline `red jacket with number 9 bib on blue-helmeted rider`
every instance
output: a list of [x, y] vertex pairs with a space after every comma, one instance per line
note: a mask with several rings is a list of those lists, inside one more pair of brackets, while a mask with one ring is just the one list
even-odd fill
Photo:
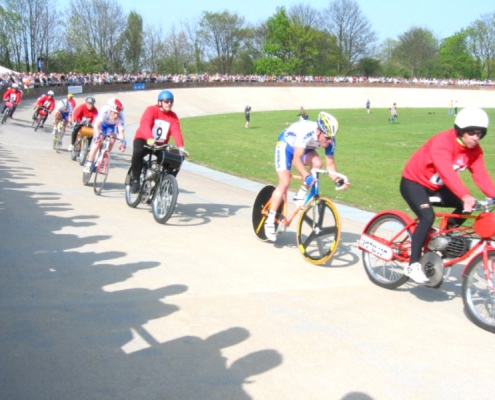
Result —
[[150, 106], [144, 110], [134, 139], [155, 139], [160, 145], [168, 143], [170, 136], [174, 138], [178, 147], [184, 147], [184, 138], [177, 114], [173, 111], [163, 112], [158, 106]]

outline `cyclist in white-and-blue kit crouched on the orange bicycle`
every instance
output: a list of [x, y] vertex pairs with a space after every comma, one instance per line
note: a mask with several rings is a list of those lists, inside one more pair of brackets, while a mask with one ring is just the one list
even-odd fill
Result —
[[[335, 135], [339, 130], [339, 124], [335, 117], [327, 112], [320, 112], [316, 122], [310, 120], [300, 120], [290, 125], [278, 137], [275, 146], [275, 169], [278, 175], [278, 185], [272, 194], [270, 202], [270, 212], [265, 221], [265, 235], [268, 240], [274, 242], [277, 238], [275, 231], [275, 216], [282, 203], [283, 196], [287, 193], [290, 184], [290, 169], [292, 164], [297, 172], [304, 178], [304, 184], [294, 197], [296, 202], [303, 202], [306, 191], [314, 182], [306, 166], [311, 168], [321, 168], [322, 160], [316, 149], [325, 149], [326, 169], [337, 172], [335, 164]], [[343, 179], [329, 175], [337, 186], [343, 189], [349, 187]]]

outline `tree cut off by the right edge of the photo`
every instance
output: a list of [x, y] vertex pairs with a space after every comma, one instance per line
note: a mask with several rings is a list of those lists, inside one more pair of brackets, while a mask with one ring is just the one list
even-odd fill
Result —
[[495, 13], [484, 14], [467, 29], [467, 47], [478, 60], [486, 78], [493, 75], [495, 63]]

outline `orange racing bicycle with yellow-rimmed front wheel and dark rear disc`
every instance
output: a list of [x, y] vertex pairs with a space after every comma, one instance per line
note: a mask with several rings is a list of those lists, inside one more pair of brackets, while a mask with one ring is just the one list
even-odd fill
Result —
[[[340, 216], [337, 208], [327, 197], [320, 196], [319, 175], [334, 175], [344, 180], [349, 180], [343, 174], [323, 169], [312, 169], [311, 174], [316, 178], [315, 183], [308, 190], [304, 204], [298, 205], [289, 214], [287, 210], [287, 193], [277, 210], [275, 217], [275, 229], [278, 234], [285, 232], [296, 216], [299, 220], [296, 228], [297, 247], [304, 259], [312, 264], [326, 263], [337, 250], [340, 241]], [[300, 176], [291, 176], [297, 180], [303, 180]], [[339, 187], [336, 187], [338, 190]], [[253, 205], [252, 223], [254, 233], [262, 241], [267, 241], [264, 223], [270, 211], [270, 199], [275, 186], [267, 185], [258, 193]]]

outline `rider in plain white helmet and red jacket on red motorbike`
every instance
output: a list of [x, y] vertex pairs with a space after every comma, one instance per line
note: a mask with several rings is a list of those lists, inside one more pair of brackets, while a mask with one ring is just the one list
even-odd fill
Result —
[[[488, 174], [479, 141], [486, 135], [488, 115], [467, 107], [455, 118], [454, 127], [430, 138], [409, 159], [402, 172], [400, 193], [419, 218], [412, 235], [411, 261], [405, 275], [418, 283], [428, 281], [421, 263], [421, 249], [435, 220], [430, 196], [441, 199], [441, 207], [454, 207], [454, 213], [471, 212], [476, 199], [464, 185], [459, 172], [468, 169], [474, 183], [488, 197], [495, 197], [495, 184]], [[464, 219], [450, 220], [460, 225]]]

